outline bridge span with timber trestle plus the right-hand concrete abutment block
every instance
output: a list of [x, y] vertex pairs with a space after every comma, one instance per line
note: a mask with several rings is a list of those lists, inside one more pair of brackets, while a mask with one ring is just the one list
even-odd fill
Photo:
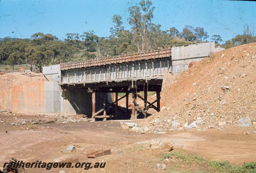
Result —
[[[92, 118], [106, 120], [111, 117], [107, 115], [109, 106], [115, 107], [114, 117], [137, 119], [140, 113], [145, 118], [149, 108], [160, 111], [160, 92], [165, 71], [181, 73], [191, 61], [200, 61], [219, 50], [211, 42], [60, 64], [59, 83], [63, 89], [80, 88], [92, 92]], [[144, 91], [144, 97], [137, 94], [141, 91]], [[148, 91], [156, 92], [156, 100], [152, 103], [148, 102]], [[97, 96], [97, 92], [103, 93], [102, 97]], [[112, 103], [108, 102], [107, 93], [116, 93]], [[118, 93], [125, 95], [118, 98]], [[128, 109], [129, 93], [132, 93], [132, 112]], [[137, 103], [137, 97], [144, 101], [144, 105]], [[97, 112], [96, 98], [103, 101], [102, 108]], [[124, 109], [118, 105], [118, 101], [123, 98], [126, 98]], [[118, 112], [122, 112], [122, 115]]]

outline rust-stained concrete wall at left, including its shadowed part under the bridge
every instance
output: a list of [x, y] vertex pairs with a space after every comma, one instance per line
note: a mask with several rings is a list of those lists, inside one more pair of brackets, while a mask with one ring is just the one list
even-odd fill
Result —
[[[96, 93], [102, 97], [102, 93]], [[0, 91], [0, 106], [24, 114], [92, 114], [92, 93], [87, 89], [61, 89], [58, 82], [26, 83]], [[96, 111], [103, 106], [96, 99]]]

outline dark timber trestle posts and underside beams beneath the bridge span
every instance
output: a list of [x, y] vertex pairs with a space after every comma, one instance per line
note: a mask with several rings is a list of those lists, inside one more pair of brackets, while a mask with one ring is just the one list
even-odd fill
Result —
[[[146, 118], [149, 114], [148, 109], [153, 108], [157, 112], [160, 111], [160, 91], [162, 89], [162, 76], [158, 77], [158, 79], [154, 80], [132, 80], [132, 81], [123, 81], [123, 82], [99, 82], [99, 83], [74, 83], [74, 84], [64, 84], [61, 86], [63, 89], [86, 89], [85, 92], [92, 92], [92, 118], [103, 118], [106, 120], [107, 118], [126, 118], [126, 119], [137, 119], [137, 117]], [[154, 91], [156, 92], [156, 100], [153, 102], [148, 101], [148, 92]], [[104, 93], [103, 97], [96, 96], [96, 92]], [[139, 95], [139, 92], [143, 92], [143, 95]], [[107, 93], [115, 93], [114, 99], [112, 98], [112, 103], [108, 102]], [[118, 98], [118, 93], [125, 93], [122, 97]], [[129, 93], [132, 95], [132, 103], [129, 104]], [[144, 105], [139, 105], [137, 102], [137, 98], [140, 98], [144, 101]], [[103, 101], [102, 108], [96, 112], [96, 98]], [[120, 107], [118, 105], [118, 101], [121, 99], [126, 99], [125, 107]], [[131, 100], [131, 99], [130, 99]], [[115, 108], [115, 112], [109, 112], [109, 108]], [[132, 108], [129, 111], [129, 107]]]

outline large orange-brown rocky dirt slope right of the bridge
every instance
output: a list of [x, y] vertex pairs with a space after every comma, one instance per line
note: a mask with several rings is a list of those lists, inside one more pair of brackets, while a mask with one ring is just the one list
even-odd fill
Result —
[[[161, 99], [165, 109], [140, 122], [159, 128], [180, 126], [201, 117], [204, 126], [237, 124], [249, 115], [256, 121], [256, 43], [212, 54], [179, 75], [166, 74]], [[171, 120], [171, 121], [170, 121]], [[151, 123], [150, 123], [151, 122]]]

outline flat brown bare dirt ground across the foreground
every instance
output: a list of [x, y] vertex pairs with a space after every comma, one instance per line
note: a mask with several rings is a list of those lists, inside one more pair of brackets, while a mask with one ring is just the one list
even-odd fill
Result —
[[[63, 170], [66, 172], [154, 172], [153, 167], [159, 162], [165, 163], [168, 170], [171, 163], [160, 159], [163, 151], [148, 147], [148, 141], [153, 138], [172, 139], [174, 151], [182, 150], [212, 160], [228, 160], [235, 164], [242, 164], [256, 160], [256, 133], [251, 133], [253, 130], [252, 127], [233, 126], [225, 127], [221, 131], [182, 130], [157, 135], [122, 131], [120, 121], [0, 125], [0, 165], [2, 168], [3, 162], [12, 157], [24, 162], [37, 160], [53, 162], [56, 158], [64, 162], [78, 158], [79, 162], [106, 162], [106, 167]], [[246, 131], [251, 134], [244, 134]], [[61, 150], [69, 145], [76, 145], [76, 152], [62, 153]], [[112, 155], [96, 159], [86, 157], [86, 153], [100, 148], [111, 148]], [[43, 169], [26, 170], [28, 172], [43, 171]], [[60, 169], [51, 169], [47, 172], [59, 171]]]

